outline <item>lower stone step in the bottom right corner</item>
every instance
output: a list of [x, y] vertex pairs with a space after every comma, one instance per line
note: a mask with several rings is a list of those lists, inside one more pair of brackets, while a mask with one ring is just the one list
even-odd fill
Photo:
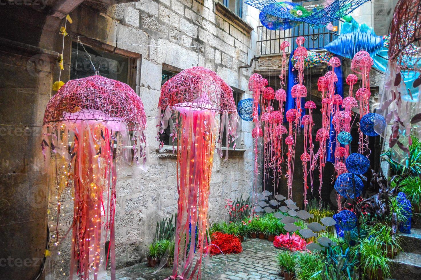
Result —
[[400, 252], [395, 259], [390, 261], [390, 272], [393, 279], [421, 279], [421, 254]]

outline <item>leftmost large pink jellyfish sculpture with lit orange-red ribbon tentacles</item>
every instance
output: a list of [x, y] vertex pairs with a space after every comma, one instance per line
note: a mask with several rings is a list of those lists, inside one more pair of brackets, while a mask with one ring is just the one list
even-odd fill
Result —
[[[45, 164], [50, 165], [46, 156], [51, 155], [55, 165], [63, 167], [55, 170], [56, 244], [60, 231], [66, 231], [59, 226], [61, 193], [71, 180], [75, 188], [71, 278], [76, 274], [79, 279], [94, 279], [105, 273], [103, 262], [108, 262], [110, 252], [115, 271], [117, 171], [132, 159], [129, 131], [133, 131], [133, 163], [141, 161], [139, 166], [146, 167], [145, 128], [140, 97], [125, 83], [99, 75], [68, 81], [47, 104], [41, 144]], [[107, 238], [109, 251], [104, 252]]]

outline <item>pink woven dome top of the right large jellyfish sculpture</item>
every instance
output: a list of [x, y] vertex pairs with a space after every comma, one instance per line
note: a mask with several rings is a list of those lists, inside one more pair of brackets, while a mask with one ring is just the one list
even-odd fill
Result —
[[163, 84], [158, 107], [168, 106], [237, 112], [231, 87], [201, 66], [185, 69]]

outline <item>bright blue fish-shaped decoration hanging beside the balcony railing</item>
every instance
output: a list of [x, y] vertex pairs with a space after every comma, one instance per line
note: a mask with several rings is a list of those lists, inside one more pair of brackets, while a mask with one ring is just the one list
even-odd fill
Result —
[[349, 59], [352, 59], [361, 50], [374, 56], [383, 48], [383, 37], [377, 36], [374, 29], [367, 24], [358, 24], [352, 19], [351, 22], [342, 24], [339, 37], [325, 45], [324, 48]]

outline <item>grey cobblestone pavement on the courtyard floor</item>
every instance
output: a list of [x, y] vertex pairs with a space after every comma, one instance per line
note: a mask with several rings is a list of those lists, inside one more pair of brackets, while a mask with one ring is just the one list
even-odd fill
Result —
[[[267, 240], [245, 238], [243, 251], [238, 254], [217, 255], [210, 258], [203, 268], [203, 280], [282, 280], [275, 256], [278, 249]], [[119, 280], [163, 280], [171, 275], [172, 268], [163, 267], [157, 273], [156, 267], [136, 264], [117, 270]]]

